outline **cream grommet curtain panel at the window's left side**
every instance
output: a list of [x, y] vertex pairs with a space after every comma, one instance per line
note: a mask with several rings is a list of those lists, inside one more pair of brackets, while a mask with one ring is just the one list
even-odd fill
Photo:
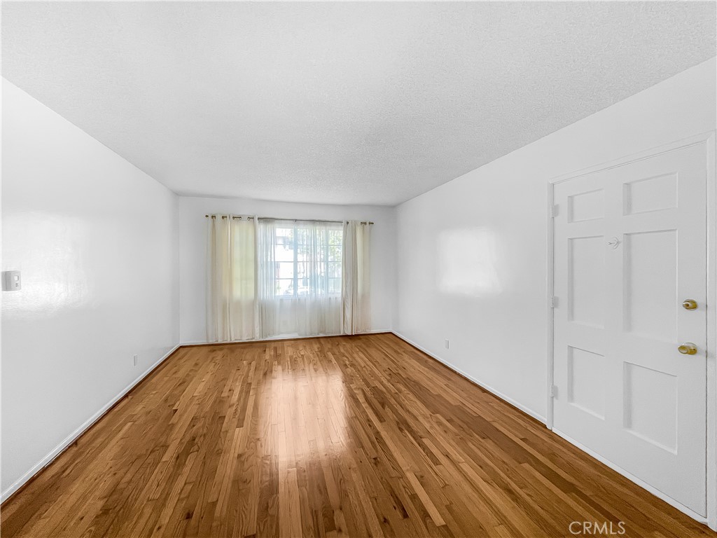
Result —
[[207, 222], [206, 339], [256, 338], [256, 219], [214, 215]]

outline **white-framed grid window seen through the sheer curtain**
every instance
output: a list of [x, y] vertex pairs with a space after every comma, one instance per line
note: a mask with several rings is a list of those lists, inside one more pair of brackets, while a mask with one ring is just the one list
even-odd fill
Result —
[[275, 296], [341, 296], [341, 222], [280, 222], [274, 228]]

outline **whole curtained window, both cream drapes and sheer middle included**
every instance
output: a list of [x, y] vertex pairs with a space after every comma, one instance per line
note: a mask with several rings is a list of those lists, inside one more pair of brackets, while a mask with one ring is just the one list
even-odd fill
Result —
[[226, 217], [207, 227], [209, 339], [368, 330], [368, 224]]

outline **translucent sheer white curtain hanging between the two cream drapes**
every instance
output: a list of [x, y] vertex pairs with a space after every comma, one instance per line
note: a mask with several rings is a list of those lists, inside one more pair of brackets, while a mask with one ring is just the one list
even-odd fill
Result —
[[260, 220], [262, 337], [341, 333], [341, 223]]

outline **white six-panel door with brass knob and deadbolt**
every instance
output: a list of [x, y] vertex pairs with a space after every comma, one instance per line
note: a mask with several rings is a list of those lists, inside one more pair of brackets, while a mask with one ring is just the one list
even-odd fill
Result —
[[696, 144], [554, 187], [554, 429], [703, 516], [706, 174]]

